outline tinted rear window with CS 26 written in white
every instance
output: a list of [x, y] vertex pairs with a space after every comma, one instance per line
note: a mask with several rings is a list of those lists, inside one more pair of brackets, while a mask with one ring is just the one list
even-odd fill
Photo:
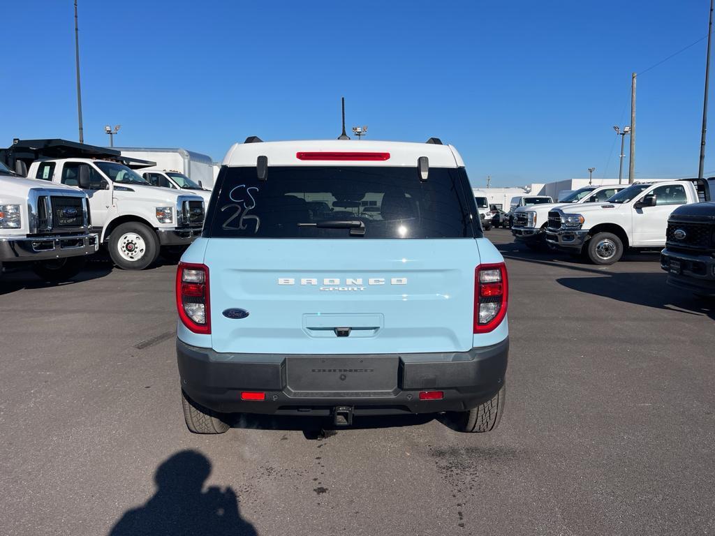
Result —
[[[463, 169], [416, 167], [223, 167], [204, 236], [350, 238], [350, 229], [316, 227], [362, 222], [363, 238], [474, 238], [474, 198]], [[210, 223], [209, 223], [210, 222]], [[302, 225], [299, 225], [302, 224]]]

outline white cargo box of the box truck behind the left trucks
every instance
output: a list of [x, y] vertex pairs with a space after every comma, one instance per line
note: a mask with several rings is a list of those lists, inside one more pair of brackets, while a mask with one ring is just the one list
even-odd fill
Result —
[[123, 157], [138, 158], [156, 162], [154, 167], [142, 168], [142, 172], [177, 171], [204, 188], [214, 187], [214, 163], [207, 154], [201, 154], [187, 149], [155, 149], [144, 147], [113, 147], [122, 153]]

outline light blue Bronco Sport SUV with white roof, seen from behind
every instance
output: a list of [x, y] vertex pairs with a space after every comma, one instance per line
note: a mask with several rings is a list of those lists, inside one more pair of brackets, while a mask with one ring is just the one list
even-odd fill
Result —
[[187, 427], [235, 412], [332, 417], [503, 412], [508, 280], [456, 149], [235, 144], [177, 269]]

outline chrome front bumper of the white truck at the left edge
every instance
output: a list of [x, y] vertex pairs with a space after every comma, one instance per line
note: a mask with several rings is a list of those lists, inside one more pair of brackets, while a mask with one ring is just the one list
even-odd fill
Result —
[[0, 237], [0, 262], [43, 261], [97, 253], [97, 234]]

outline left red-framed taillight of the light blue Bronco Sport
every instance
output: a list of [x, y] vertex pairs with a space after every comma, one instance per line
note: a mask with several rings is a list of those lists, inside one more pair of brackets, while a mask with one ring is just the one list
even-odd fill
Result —
[[194, 333], [211, 333], [209, 268], [204, 264], [179, 262], [176, 294], [182, 324]]

